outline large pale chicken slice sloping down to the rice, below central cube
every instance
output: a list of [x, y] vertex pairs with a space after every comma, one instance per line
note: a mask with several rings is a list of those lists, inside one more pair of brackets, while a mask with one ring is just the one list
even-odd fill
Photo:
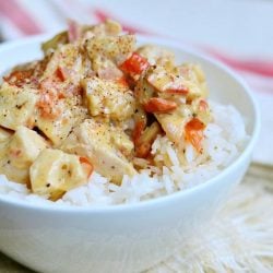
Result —
[[136, 174], [124, 157], [133, 151], [129, 136], [118, 128], [93, 119], [74, 128], [61, 150], [87, 157], [97, 173], [115, 183], [120, 183], [123, 175]]

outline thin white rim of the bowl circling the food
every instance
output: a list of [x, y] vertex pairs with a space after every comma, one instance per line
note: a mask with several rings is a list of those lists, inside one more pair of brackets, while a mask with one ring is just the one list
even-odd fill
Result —
[[[25, 46], [25, 45], [33, 45], [33, 44], [40, 44], [44, 40], [50, 38], [52, 35], [55, 35], [56, 33], [49, 33], [49, 34], [41, 34], [41, 35], [35, 35], [32, 37], [27, 37], [27, 38], [22, 38], [19, 40], [12, 40], [12, 41], [5, 41], [2, 45], [0, 45], [0, 55], [2, 51], [4, 50], [11, 50], [11, 49], [15, 49], [17, 47], [21, 46]], [[254, 95], [252, 94], [252, 91], [250, 90], [250, 87], [248, 86], [248, 84], [246, 83], [246, 81], [244, 79], [241, 79], [241, 76], [239, 76], [236, 72], [234, 72], [230, 68], [228, 68], [226, 64], [224, 64], [223, 62], [207, 56], [204, 52], [199, 51], [195, 48], [189, 47], [178, 40], [174, 40], [171, 38], [162, 38], [158, 36], [153, 36], [153, 35], [139, 35], [136, 34], [136, 39], [141, 40], [141, 41], [145, 41], [145, 43], [152, 43], [155, 45], [162, 45], [164, 47], [173, 47], [175, 49], [185, 51], [187, 54], [190, 54], [199, 59], [202, 59], [211, 64], [213, 64], [214, 67], [223, 70], [225, 73], [227, 73], [229, 76], [232, 76], [237, 83], [239, 83], [244, 90], [244, 92], [246, 93], [251, 106], [252, 106], [252, 110], [254, 114], [254, 120], [253, 120], [253, 130], [252, 130], [252, 134], [250, 135], [250, 140], [248, 141], [246, 147], [244, 149], [244, 151], [238, 155], [238, 157], [232, 163], [229, 164], [226, 168], [224, 168], [219, 174], [213, 176], [212, 178], [210, 178], [209, 180], [206, 180], [205, 182], [202, 182], [198, 186], [194, 186], [192, 188], [189, 189], [185, 189], [181, 191], [176, 191], [171, 194], [168, 195], [163, 195], [163, 197], [158, 197], [155, 199], [150, 199], [150, 200], [145, 200], [145, 201], [141, 201], [141, 202], [136, 202], [136, 203], [130, 203], [130, 204], [114, 204], [114, 205], [90, 205], [90, 206], [74, 206], [74, 205], [66, 205], [66, 204], [58, 204], [55, 205], [52, 204], [47, 204], [47, 203], [32, 203], [32, 202], [27, 202], [25, 200], [16, 200], [15, 198], [11, 198], [10, 195], [4, 195], [3, 193], [0, 193], [0, 205], [10, 205], [10, 206], [19, 206], [19, 207], [24, 207], [24, 209], [28, 209], [28, 210], [33, 210], [33, 211], [44, 211], [44, 212], [51, 212], [51, 213], [115, 213], [115, 212], [127, 212], [127, 211], [134, 211], [134, 210], [142, 210], [142, 209], [149, 209], [149, 207], [159, 207], [159, 205], [163, 205], [164, 203], [168, 203], [169, 201], [176, 201], [177, 199], [181, 199], [181, 198], [187, 198], [192, 193], [198, 193], [202, 190], [204, 190], [205, 188], [210, 188], [210, 186], [213, 186], [214, 183], [217, 183], [218, 181], [221, 181], [225, 176], [227, 176], [229, 173], [233, 173], [233, 170], [236, 168], [237, 165], [241, 164], [242, 162], [245, 162], [252, 153], [254, 144], [258, 141], [259, 138], [259, 132], [260, 132], [260, 128], [261, 128], [261, 118], [260, 118], [260, 110], [258, 107], [258, 103], [257, 99], [254, 98]]]

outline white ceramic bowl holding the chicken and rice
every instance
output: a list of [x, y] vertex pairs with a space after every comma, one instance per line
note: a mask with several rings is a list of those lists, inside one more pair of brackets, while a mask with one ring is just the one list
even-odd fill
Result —
[[[48, 36], [0, 47], [0, 73], [41, 56]], [[139, 272], [168, 257], [219, 207], [246, 173], [260, 129], [248, 86], [229, 69], [180, 44], [139, 37], [171, 48], [178, 61], [194, 61], [206, 74], [211, 97], [232, 104], [247, 118], [250, 140], [219, 175], [186, 190], [131, 205], [108, 207], [35, 206], [0, 197], [0, 250], [38, 272]], [[207, 233], [210, 230], [204, 230]]]

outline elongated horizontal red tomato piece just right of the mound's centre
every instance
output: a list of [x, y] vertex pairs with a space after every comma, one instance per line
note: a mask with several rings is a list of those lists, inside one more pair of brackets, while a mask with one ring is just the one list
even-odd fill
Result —
[[144, 105], [144, 109], [147, 112], [169, 112], [177, 108], [177, 104], [171, 100], [167, 100], [161, 97], [151, 97]]

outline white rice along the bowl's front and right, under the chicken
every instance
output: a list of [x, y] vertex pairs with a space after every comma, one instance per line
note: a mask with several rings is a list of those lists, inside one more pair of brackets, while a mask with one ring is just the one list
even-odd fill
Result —
[[151, 167], [141, 170], [133, 178], [124, 176], [120, 187], [94, 173], [87, 185], [70, 190], [62, 199], [51, 202], [31, 193], [24, 185], [0, 176], [0, 197], [9, 195], [40, 205], [112, 205], [154, 199], [205, 182], [227, 167], [248, 141], [242, 117], [233, 106], [212, 102], [210, 105], [213, 122], [205, 129], [202, 154], [187, 145], [181, 158], [166, 136], [158, 136], [152, 146], [152, 153], [155, 161], [164, 165], [162, 170]]

